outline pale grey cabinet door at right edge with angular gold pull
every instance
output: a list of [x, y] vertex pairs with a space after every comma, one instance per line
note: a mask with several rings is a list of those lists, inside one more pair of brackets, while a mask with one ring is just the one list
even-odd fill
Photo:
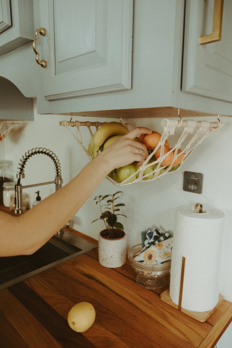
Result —
[[231, 102], [231, 0], [224, 0], [221, 41], [199, 44], [212, 32], [214, 1], [186, 0], [182, 90]]

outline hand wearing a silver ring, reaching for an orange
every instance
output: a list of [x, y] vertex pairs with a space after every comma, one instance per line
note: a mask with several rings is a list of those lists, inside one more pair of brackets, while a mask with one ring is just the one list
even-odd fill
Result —
[[[151, 132], [149, 128], [136, 127], [126, 135], [121, 136], [97, 157], [101, 156], [102, 159], [104, 158], [107, 160], [110, 166], [109, 172], [115, 168], [120, 168], [133, 162], [137, 162], [137, 165], [141, 166], [149, 153], [144, 144], [134, 139], [140, 134], [151, 134]], [[140, 153], [141, 151], [139, 151], [139, 149], [142, 153]]]

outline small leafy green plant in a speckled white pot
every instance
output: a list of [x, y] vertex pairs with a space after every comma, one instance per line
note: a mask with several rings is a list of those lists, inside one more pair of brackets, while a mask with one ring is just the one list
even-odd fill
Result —
[[120, 267], [126, 262], [127, 255], [127, 236], [123, 225], [118, 222], [120, 207], [124, 203], [117, 203], [122, 191], [117, 191], [113, 195], [96, 196], [94, 200], [99, 205], [101, 216], [92, 221], [103, 220], [105, 229], [98, 236], [98, 259], [102, 266], [114, 268]]

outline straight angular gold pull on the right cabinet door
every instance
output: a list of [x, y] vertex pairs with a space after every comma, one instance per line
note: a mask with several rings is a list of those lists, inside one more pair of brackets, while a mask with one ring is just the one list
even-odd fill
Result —
[[214, 0], [213, 33], [199, 37], [199, 44], [205, 45], [210, 42], [220, 41], [222, 34], [223, 0]]

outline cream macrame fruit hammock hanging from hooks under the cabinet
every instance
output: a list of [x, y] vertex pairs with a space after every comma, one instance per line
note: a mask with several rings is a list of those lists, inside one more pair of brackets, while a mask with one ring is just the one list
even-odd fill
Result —
[[[135, 182], [148, 182], [160, 179], [164, 175], [178, 170], [182, 166], [183, 162], [187, 159], [187, 157], [189, 157], [190, 153], [199, 144], [201, 144], [202, 141], [206, 139], [206, 137], [209, 134], [217, 131], [219, 127], [223, 126], [222, 122], [219, 120], [219, 115], [218, 122], [182, 120], [182, 118], [179, 116], [178, 110], [178, 117], [180, 118], [180, 120], [171, 118], [161, 120], [162, 134], [160, 133], [161, 137], [157, 146], [155, 147], [155, 149], [149, 151], [148, 158], [144, 161], [142, 166], [137, 166], [133, 174], [128, 176], [123, 181], [118, 182], [117, 180], [115, 180], [115, 176], [113, 176], [113, 173], [111, 172], [106, 176], [106, 179], [117, 186], [128, 185]], [[92, 156], [88, 151], [89, 143], [93, 135], [98, 130], [98, 128], [106, 123], [107, 122], [72, 121], [72, 118], [70, 121], [59, 122], [61, 126], [64, 126], [67, 129], [69, 129], [72, 136], [78, 142], [82, 150], [85, 151], [86, 155], [89, 157], [90, 160], [92, 159]], [[129, 127], [129, 124], [123, 125], [127, 128]], [[80, 128], [82, 126], [86, 126], [90, 134], [90, 139], [88, 141], [88, 144], [86, 145], [84, 145], [82, 141], [80, 131]], [[91, 130], [91, 127], [95, 127], [94, 133]], [[75, 129], [75, 134], [71, 128]], [[167, 151], [167, 141], [169, 141], [169, 137], [171, 135], [175, 134], [177, 128], [181, 128], [182, 132], [180, 135], [178, 135], [176, 144], [173, 147], [168, 148]], [[159, 156], [157, 156], [157, 151], [159, 152]], [[173, 153], [173, 155], [171, 154], [171, 163], [167, 160], [168, 156], [170, 157], [170, 153]]]

